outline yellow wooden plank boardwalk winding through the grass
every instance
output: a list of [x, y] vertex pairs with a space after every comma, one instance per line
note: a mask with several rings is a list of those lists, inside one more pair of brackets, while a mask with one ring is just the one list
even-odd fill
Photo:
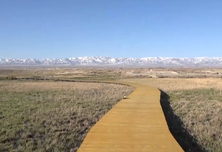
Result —
[[183, 152], [171, 135], [160, 91], [142, 84], [91, 128], [78, 152]]

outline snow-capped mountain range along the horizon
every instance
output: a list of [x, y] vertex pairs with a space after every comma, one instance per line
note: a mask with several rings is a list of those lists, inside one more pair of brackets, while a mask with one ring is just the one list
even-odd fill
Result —
[[112, 57], [73, 57], [57, 59], [0, 59], [0, 66], [59, 66], [59, 65], [128, 65], [128, 66], [219, 66], [222, 67], [222, 57], [145, 57], [145, 58], [112, 58]]

